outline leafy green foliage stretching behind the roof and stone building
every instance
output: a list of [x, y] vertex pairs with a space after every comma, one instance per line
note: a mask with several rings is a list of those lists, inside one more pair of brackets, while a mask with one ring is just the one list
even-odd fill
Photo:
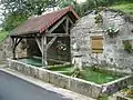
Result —
[[[85, 12], [99, 7], [112, 6], [115, 2], [133, 2], [133, 0], [86, 0], [83, 3], [76, 3], [76, 0], [0, 0], [4, 21], [2, 27], [10, 31], [22, 23], [27, 18], [34, 14], [42, 14], [48, 8], [64, 8], [72, 6], [76, 13], [82, 17]], [[126, 6], [125, 12], [133, 13], [132, 4]], [[117, 9], [119, 7], [113, 7]], [[124, 9], [120, 6], [120, 9]], [[12, 24], [11, 24], [12, 23]]]

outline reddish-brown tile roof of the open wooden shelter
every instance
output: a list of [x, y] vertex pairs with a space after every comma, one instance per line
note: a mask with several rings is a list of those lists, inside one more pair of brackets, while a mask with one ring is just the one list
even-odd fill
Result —
[[28, 19], [25, 22], [17, 27], [14, 30], [11, 31], [11, 36], [20, 36], [20, 34], [29, 34], [29, 33], [42, 33], [54, 24], [58, 20], [60, 20], [64, 14], [68, 12], [72, 12], [74, 19], [78, 19], [78, 14], [72, 9], [72, 7], [66, 7], [59, 11], [50, 12], [43, 16], [34, 17]]

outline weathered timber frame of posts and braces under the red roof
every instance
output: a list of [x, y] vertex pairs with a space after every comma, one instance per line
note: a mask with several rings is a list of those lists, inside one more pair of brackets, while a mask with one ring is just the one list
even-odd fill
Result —
[[[38, 31], [35, 33], [31, 34], [23, 34], [23, 36], [12, 36], [12, 53], [13, 53], [13, 59], [16, 59], [16, 48], [17, 46], [21, 42], [22, 39], [30, 39], [33, 38], [35, 39], [35, 42], [42, 53], [42, 66], [47, 67], [47, 51], [48, 49], [53, 44], [53, 42], [57, 40], [58, 37], [70, 37], [70, 27], [73, 24], [73, 20], [69, 17], [69, 14], [63, 16], [58, 22], [53, 23], [45, 32], [39, 33]], [[60, 32], [64, 33], [53, 33], [53, 31], [59, 28], [59, 26], [62, 26], [63, 29], [58, 29]], [[61, 28], [62, 28], [61, 27]], [[58, 31], [55, 31], [58, 32]], [[50, 37], [52, 38], [48, 43], [47, 43], [47, 38]]]

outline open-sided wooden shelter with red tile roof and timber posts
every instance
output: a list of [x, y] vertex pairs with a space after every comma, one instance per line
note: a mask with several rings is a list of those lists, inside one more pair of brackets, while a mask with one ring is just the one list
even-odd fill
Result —
[[[66, 38], [68, 41], [70, 41], [70, 29], [76, 20], [78, 14], [71, 7], [43, 16], [29, 18], [10, 33], [13, 59], [16, 59], [16, 48], [21, 40], [33, 39], [41, 52], [42, 64], [45, 66], [50, 47], [58, 38]], [[32, 42], [30, 42], [30, 46], [32, 46]]]

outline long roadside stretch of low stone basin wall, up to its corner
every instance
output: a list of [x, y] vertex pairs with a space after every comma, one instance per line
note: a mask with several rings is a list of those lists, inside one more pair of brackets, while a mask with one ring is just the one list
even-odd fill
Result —
[[76, 78], [71, 78], [16, 60], [8, 59], [8, 62], [11, 69], [78, 93], [85, 94], [91, 98], [98, 98], [101, 93], [102, 88], [100, 84], [91, 83]]

